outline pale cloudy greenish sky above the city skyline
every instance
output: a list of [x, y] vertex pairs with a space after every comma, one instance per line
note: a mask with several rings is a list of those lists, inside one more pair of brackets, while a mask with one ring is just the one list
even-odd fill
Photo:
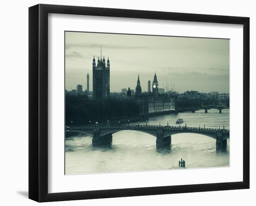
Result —
[[[87, 73], [92, 91], [93, 58], [110, 61], [110, 92], [141, 89], [156, 73], [159, 88], [229, 93], [229, 40], [109, 33], [65, 33], [66, 89], [81, 84]], [[174, 86], [175, 85], [175, 86]]]

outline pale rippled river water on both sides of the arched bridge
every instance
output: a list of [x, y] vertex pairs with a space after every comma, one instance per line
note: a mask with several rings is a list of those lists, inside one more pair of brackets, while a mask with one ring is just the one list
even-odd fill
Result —
[[[181, 126], [201, 126], [229, 129], [229, 110], [219, 113], [216, 109], [195, 113], [168, 114], [152, 117], [148, 125], [177, 126], [175, 121], [183, 119]], [[139, 124], [146, 124], [140, 122]], [[193, 133], [172, 135], [170, 148], [156, 148], [156, 137], [139, 131], [120, 131], [113, 134], [111, 146], [92, 146], [92, 137], [78, 134], [65, 140], [65, 173], [108, 173], [176, 168], [180, 159], [186, 168], [229, 166], [229, 139], [227, 148], [216, 151], [216, 140]]]

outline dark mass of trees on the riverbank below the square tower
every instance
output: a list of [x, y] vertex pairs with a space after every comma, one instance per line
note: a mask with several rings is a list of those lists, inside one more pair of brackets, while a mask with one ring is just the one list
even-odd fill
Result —
[[[66, 125], [84, 125], [139, 115], [134, 100], [89, 100], [85, 96], [66, 96]], [[71, 123], [72, 122], [72, 123]]]

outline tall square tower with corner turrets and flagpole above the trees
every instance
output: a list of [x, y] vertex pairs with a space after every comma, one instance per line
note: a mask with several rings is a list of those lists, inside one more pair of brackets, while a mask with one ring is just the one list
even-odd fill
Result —
[[93, 59], [93, 99], [94, 100], [105, 100], [109, 98], [110, 92], [110, 77], [109, 77], [110, 63], [105, 58], [98, 58], [97, 66], [95, 59]]

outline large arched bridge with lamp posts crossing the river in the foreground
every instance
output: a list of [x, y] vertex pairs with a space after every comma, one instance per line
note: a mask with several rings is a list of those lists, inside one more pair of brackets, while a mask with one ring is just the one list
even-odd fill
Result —
[[156, 126], [156, 125], [85, 125], [66, 126], [66, 132], [85, 133], [93, 137], [93, 146], [112, 142], [112, 134], [122, 130], [134, 130], [151, 134], [156, 137], [156, 146], [171, 144], [171, 135], [178, 133], [197, 133], [216, 140], [217, 147], [226, 147], [229, 130], [188, 126]]

